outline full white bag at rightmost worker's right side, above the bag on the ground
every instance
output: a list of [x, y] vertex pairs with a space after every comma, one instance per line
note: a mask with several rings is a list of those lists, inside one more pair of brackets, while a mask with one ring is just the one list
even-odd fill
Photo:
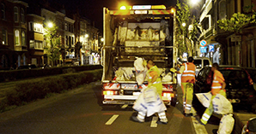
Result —
[[216, 94], [212, 99], [212, 105], [216, 114], [230, 114], [233, 113], [231, 102], [221, 94]]

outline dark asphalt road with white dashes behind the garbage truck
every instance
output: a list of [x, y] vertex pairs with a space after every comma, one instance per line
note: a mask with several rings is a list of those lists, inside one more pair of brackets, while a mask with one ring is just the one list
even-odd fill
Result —
[[194, 117], [184, 117], [180, 103], [168, 107], [168, 125], [157, 125], [157, 116], [147, 118], [145, 123], [133, 122], [130, 117], [137, 112], [132, 106], [103, 106], [101, 101], [101, 82], [86, 84], [0, 114], [0, 133], [205, 134], [218, 127], [217, 118], [204, 126]]

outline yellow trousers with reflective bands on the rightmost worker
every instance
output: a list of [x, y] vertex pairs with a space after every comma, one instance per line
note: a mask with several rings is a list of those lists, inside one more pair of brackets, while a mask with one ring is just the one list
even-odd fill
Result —
[[[219, 94], [226, 97], [226, 91], [220, 90]], [[206, 108], [204, 111], [204, 114], [202, 116], [201, 122], [206, 125], [208, 120], [210, 119], [211, 114], [213, 113], [213, 105], [212, 105], [212, 99], [215, 98], [216, 95], [211, 96], [210, 98], [210, 105], [209, 108]]]

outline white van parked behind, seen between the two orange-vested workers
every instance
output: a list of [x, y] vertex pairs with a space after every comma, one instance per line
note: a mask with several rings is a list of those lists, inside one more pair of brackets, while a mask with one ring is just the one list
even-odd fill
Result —
[[212, 62], [209, 58], [206, 57], [193, 57], [194, 64], [197, 67], [196, 68], [196, 76], [198, 75], [198, 72], [205, 66], [211, 66]]

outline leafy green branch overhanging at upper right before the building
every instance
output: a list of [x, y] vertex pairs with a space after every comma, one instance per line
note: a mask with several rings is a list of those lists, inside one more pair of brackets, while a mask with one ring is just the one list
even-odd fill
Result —
[[249, 12], [250, 9], [251, 7], [245, 7], [244, 10], [247, 11], [247, 14], [235, 13], [229, 20], [217, 20], [217, 24], [224, 31], [239, 34], [246, 26], [256, 23], [256, 12], [252, 9], [252, 12]]

